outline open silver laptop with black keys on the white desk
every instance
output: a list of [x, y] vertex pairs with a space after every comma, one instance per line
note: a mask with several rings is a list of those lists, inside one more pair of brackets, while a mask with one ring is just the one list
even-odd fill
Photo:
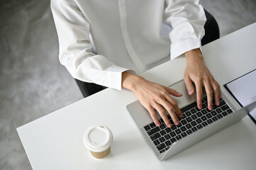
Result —
[[213, 103], [213, 111], [209, 111], [207, 97], [204, 92], [203, 108], [199, 110], [196, 105], [196, 93], [191, 96], [187, 94], [184, 80], [169, 87], [183, 94], [182, 97], [172, 96], [177, 101], [183, 115], [182, 118], [179, 118], [179, 125], [174, 125], [167, 113], [167, 117], [172, 123], [172, 128], [167, 128], [160, 115], [155, 111], [157, 118], [160, 120], [160, 127], [157, 127], [148, 111], [140, 104], [140, 101], [135, 101], [126, 106], [143, 137], [160, 161], [168, 159], [216, 132], [228, 128], [228, 126], [244, 118], [256, 106], [255, 101], [237, 110], [222, 93], [220, 106]]

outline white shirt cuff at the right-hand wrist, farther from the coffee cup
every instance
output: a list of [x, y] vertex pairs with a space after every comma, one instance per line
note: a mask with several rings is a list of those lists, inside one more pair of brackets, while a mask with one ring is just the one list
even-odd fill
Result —
[[189, 50], [200, 48], [201, 50], [201, 39], [187, 39], [177, 43], [171, 44], [171, 60], [183, 55]]

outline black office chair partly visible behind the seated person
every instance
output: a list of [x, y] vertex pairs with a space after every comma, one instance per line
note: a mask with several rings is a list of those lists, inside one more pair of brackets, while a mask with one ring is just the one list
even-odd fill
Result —
[[[206, 11], [205, 9], [204, 12], [206, 13], [207, 21], [204, 25], [205, 35], [204, 38], [201, 40], [201, 45], [206, 45], [208, 42], [212, 42], [213, 40], [220, 38], [220, 30], [218, 28], [218, 23], [216, 19], [211, 15], [211, 13], [208, 13], [208, 11]], [[77, 82], [77, 85], [79, 86], [79, 89], [82, 92], [84, 98], [92, 94], [96, 94], [97, 92], [107, 88], [106, 86], [87, 83], [78, 79], [75, 79], [75, 81]]]

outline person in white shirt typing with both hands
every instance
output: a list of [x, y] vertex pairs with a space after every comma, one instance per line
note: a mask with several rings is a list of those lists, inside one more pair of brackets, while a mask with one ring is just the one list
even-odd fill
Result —
[[199, 1], [52, 0], [51, 9], [60, 62], [78, 82], [99, 84], [99, 89], [129, 89], [155, 125], [160, 126], [157, 111], [170, 128], [172, 123], [164, 108], [179, 125], [182, 112], [172, 96], [182, 94], [136, 73], [166, 62], [169, 57], [174, 60], [184, 55], [188, 94], [196, 93], [198, 108], [202, 109], [204, 88], [208, 109], [213, 109], [214, 102], [219, 105], [221, 87], [201, 53], [201, 44], [219, 38], [218, 24]]

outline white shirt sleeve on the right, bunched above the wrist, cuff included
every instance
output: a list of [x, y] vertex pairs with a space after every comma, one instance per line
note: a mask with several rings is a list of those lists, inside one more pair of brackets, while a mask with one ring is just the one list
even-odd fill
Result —
[[206, 15], [199, 0], [166, 0], [163, 19], [173, 28], [169, 34], [171, 60], [189, 50], [201, 49]]

